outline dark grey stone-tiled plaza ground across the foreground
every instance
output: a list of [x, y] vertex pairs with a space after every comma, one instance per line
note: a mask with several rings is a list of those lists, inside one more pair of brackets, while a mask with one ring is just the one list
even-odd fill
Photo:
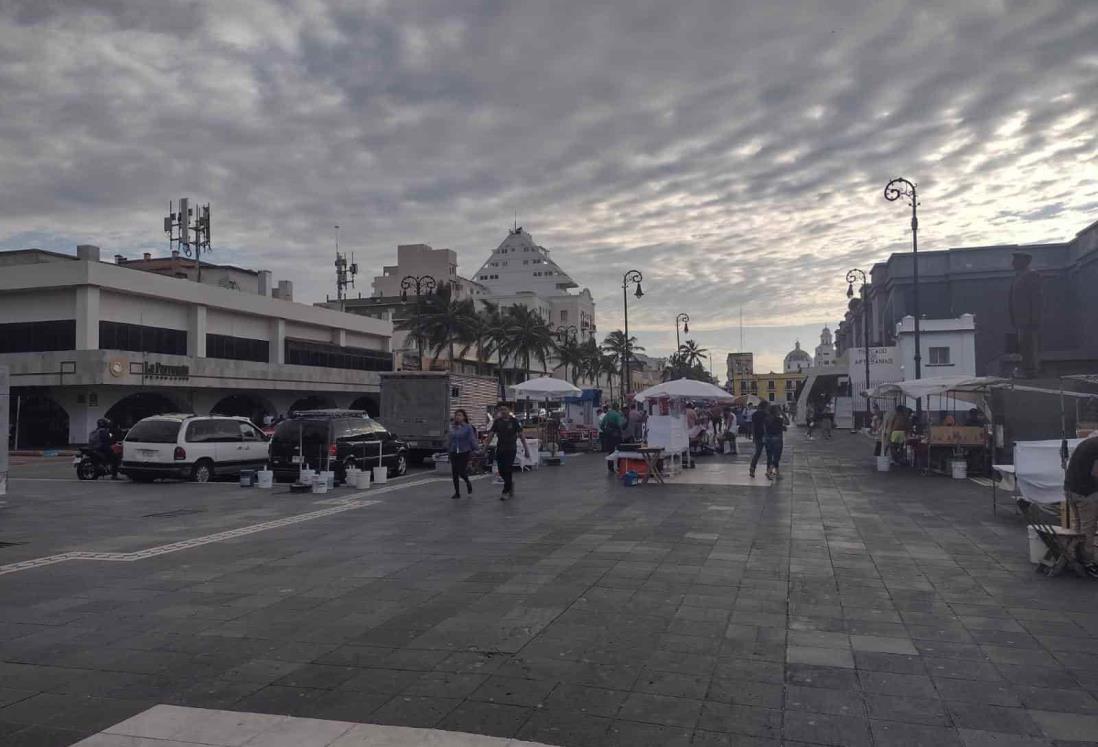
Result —
[[16, 466], [0, 744], [1098, 745], [1098, 584], [1035, 575], [1007, 497], [845, 433], [786, 461], [509, 502]]

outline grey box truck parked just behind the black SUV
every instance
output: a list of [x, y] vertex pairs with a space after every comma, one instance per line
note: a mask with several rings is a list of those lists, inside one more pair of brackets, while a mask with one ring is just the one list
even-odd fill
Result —
[[448, 371], [393, 371], [381, 375], [378, 419], [405, 444], [412, 458], [446, 450], [446, 432], [455, 410], [464, 410], [478, 430], [498, 402], [498, 382], [486, 376]]

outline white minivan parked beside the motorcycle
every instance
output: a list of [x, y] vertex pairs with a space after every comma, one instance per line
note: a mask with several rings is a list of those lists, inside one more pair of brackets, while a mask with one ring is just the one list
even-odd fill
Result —
[[158, 477], [208, 482], [242, 469], [261, 469], [268, 446], [267, 437], [247, 417], [154, 415], [126, 433], [119, 471], [136, 482]]

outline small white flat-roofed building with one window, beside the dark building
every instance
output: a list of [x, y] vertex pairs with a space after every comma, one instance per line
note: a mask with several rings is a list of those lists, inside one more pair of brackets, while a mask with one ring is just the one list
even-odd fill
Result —
[[[853, 349], [853, 348], [852, 348]], [[976, 376], [976, 317], [919, 320], [922, 378]], [[915, 317], [896, 324], [896, 350], [904, 380], [915, 376]]]

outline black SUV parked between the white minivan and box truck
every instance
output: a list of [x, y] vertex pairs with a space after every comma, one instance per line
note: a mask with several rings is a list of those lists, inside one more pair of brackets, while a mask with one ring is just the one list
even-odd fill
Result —
[[302, 464], [310, 469], [333, 469], [339, 482], [345, 481], [349, 467], [384, 466], [390, 477], [408, 468], [404, 442], [359, 410], [294, 412], [274, 428], [270, 460], [279, 480], [296, 478]]

